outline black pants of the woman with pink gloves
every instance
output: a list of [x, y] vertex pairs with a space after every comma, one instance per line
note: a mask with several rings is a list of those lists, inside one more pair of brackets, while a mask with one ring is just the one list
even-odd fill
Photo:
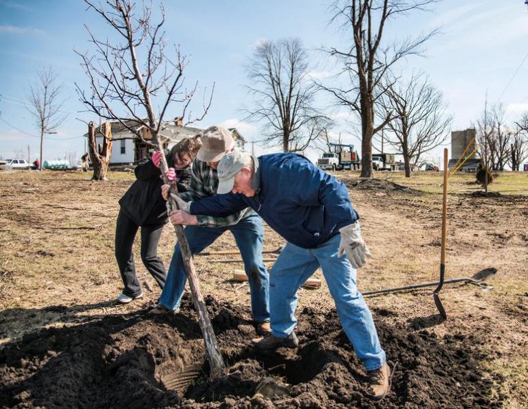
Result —
[[[167, 275], [163, 261], [157, 257], [157, 242], [162, 235], [163, 226], [163, 224], [153, 224], [141, 227], [141, 259], [160, 288], [164, 287]], [[141, 294], [140, 281], [135, 275], [132, 251], [135, 234], [139, 227], [122, 210], [119, 211], [118, 222], [115, 226], [115, 259], [118, 261], [124, 283], [123, 293], [131, 297]]]

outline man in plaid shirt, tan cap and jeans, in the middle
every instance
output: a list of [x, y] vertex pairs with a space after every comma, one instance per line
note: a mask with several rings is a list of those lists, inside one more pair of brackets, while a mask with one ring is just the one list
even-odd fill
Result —
[[[195, 201], [217, 194], [218, 163], [225, 154], [236, 150], [231, 132], [221, 126], [207, 128], [203, 133], [201, 142], [202, 146], [198, 151], [197, 158], [192, 163], [190, 189], [181, 194], [181, 198], [186, 201]], [[167, 194], [168, 191], [165, 190], [165, 198], [167, 198]], [[262, 260], [264, 226], [261, 217], [248, 207], [225, 218], [206, 215], [192, 216], [192, 221], [189, 224], [184, 231], [192, 254], [199, 253], [212, 244], [225, 231], [230, 231], [233, 234], [236, 246], [240, 249], [245, 273], [248, 274], [251, 309], [256, 332], [260, 335], [270, 334], [270, 306], [268, 301], [270, 283], [267, 268]], [[177, 244], [173, 259], [170, 261], [162, 296], [151, 313], [166, 314], [177, 311], [186, 280], [184, 262], [181, 259], [179, 244]]]

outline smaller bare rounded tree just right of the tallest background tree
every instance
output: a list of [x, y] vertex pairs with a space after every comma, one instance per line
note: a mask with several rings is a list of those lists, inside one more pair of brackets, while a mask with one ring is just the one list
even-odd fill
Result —
[[443, 94], [422, 73], [413, 73], [408, 82], [391, 78], [379, 104], [382, 117], [395, 116], [387, 124], [386, 140], [404, 156], [405, 176], [410, 178], [411, 165], [449, 135], [452, 116], [446, 113]]

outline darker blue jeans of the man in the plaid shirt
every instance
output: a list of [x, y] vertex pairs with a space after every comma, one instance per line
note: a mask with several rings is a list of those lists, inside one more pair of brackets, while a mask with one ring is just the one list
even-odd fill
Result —
[[[225, 231], [230, 231], [233, 234], [244, 262], [245, 273], [248, 274], [253, 319], [258, 323], [269, 321], [270, 281], [267, 268], [262, 261], [264, 226], [259, 215], [250, 215], [233, 226], [187, 226], [184, 232], [189, 243], [190, 253], [199, 253]], [[159, 297], [159, 304], [168, 309], [179, 308], [186, 281], [184, 262], [181, 259], [179, 244], [176, 244], [162, 296]]]

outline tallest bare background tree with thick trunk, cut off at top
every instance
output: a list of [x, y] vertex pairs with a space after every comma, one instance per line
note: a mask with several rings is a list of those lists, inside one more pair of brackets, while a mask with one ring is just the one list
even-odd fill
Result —
[[413, 10], [425, 10], [439, 0], [336, 0], [331, 22], [340, 24], [342, 31], [351, 34], [347, 49], [330, 48], [331, 56], [342, 61], [340, 77], [346, 86], [322, 85], [338, 106], [357, 113], [362, 126], [362, 177], [372, 177], [373, 135], [388, 124], [392, 115], [375, 125], [375, 103], [390, 83], [385, 81], [388, 70], [401, 58], [419, 55], [426, 41], [437, 30], [412, 40], [386, 43], [382, 39], [388, 21]]

